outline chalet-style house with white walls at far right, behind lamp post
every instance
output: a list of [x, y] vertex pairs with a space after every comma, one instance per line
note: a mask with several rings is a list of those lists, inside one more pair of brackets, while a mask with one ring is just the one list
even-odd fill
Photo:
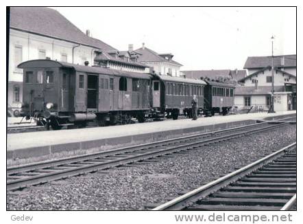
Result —
[[[234, 92], [238, 108], [267, 110], [271, 102], [271, 56], [248, 57], [244, 69], [248, 76], [238, 80]], [[296, 55], [274, 56], [274, 110], [296, 109]]]

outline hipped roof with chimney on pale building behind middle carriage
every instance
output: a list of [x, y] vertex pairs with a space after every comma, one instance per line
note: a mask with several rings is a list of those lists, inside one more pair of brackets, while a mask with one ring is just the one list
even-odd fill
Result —
[[[136, 49], [134, 52], [141, 54], [138, 57], [139, 62], [167, 62], [172, 63], [174, 65], [182, 66], [180, 63], [176, 62], [175, 60], [167, 60], [165, 57], [162, 57], [160, 55], [166, 55], [166, 54], [158, 54], [157, 52], [154, 52], [153, 50], [147, 48], [147, 47], [141, 47], [139, 49]], [[170, 54], [172, 56], [172, 54]]]

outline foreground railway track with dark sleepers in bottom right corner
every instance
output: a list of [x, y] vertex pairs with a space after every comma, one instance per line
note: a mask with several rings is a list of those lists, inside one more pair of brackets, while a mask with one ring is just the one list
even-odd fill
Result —
[[296, 169], [295, 142], [153, 210], [289, 210]]

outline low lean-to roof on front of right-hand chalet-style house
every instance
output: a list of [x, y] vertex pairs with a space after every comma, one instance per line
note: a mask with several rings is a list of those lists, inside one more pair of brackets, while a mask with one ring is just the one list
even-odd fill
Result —
[[[284, 86], [274, 87], [275, 92], [285, 91]], [[271, 93], [271, 87], [236, 87], [234, 90], [234, 95], [268, 95]]]

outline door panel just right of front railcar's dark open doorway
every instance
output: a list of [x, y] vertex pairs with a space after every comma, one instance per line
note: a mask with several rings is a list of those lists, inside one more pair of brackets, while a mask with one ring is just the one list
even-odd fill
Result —
[[108, 76], [99, 75], [99, 106], [98, 111], [110, 110], [110, 79]]

